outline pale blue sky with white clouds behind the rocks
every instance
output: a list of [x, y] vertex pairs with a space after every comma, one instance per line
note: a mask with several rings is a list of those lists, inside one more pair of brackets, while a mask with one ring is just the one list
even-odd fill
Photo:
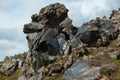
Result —
[[62, 3], [69, 9], [73, 25], [96, 17], [109, 17], [120, 8], [120, 0], [0, 0], [0, 61], [5, 56], [28, 51], [23, 25], [31, 22], [31, 15], [51, 3]]

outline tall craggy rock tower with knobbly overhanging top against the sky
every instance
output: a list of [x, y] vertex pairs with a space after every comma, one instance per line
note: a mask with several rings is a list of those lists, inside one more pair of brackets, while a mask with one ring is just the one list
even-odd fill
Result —
[[[87, 53], [80, 38], [75, 36], [78, 29], [72, 25], [68, 9], [63, 4], [48, 5], [42, 8], [39, 14], [34, 14], [31, 19], [32, 22], [25, 24], [23, 29], [27, 34], [29, 51], [23, 62], [19, 80], [32, 80], [33, 77], [39, 80], [42, 71], [48, 74], [67, 68], [73, 62], [71, 57], [69, 63], [65, 65], [55, 62], [58, 56], [74, 53], [76, 47], [78, 49], [76, 55]], [[56, 68], [52, 68], [50, 72], [44, 70], [49, 68], [49, 64]], [[42, 67], [46, 68], [41, 71]]]

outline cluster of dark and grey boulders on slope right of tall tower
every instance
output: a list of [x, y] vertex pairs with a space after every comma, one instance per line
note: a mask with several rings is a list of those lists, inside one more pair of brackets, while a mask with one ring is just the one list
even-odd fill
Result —
[[84, 44], [95, 47], [107, 46], [111, 40], [118, 37], [118, 34], [119, 29], [105, 16], [103, 19], [96, 18], [84, 23], [77, 32]]

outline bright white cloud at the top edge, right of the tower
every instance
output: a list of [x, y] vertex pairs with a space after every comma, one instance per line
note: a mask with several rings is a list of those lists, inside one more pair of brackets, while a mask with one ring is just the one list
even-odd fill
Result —
[[105, 0], [84, 0], [81, 4], [81, 14], [85, 16], [93, 16], [99, 11], [107, 10], [108, 6], [106, 5]]

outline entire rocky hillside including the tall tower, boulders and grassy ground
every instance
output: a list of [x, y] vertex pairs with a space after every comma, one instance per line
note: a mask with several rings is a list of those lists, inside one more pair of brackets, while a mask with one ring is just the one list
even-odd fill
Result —
[[120, 9], [80, 27], [68, 11], [55, 3], [31, 16], [29, 51], [5, 58], [0, 80], [120, 80]]

